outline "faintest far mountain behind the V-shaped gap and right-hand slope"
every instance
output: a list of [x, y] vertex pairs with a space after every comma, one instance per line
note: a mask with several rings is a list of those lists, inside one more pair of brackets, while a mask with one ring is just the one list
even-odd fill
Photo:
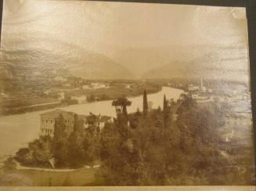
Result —
[[180, 64], [186, 65], [186, 62], [196, 62], [198, 59], [202, 60], [199, 60], [199, 62], [207, 61], [207, 67], [212, 69], [216, 68], [215, 65], [218, 68], [223, 67], [223, 65], [236, 68], [236, 61], [240, 60], [243, 65], [241, 63], [237, 64], [242, 68], [244, 63], [247, 62], [246, 47], [247, 45], [244, 41], [236, 44], [166, 45], [119, 49], [110, 53], [110, 57], [140, 77], [171, 62], [180, 62]]

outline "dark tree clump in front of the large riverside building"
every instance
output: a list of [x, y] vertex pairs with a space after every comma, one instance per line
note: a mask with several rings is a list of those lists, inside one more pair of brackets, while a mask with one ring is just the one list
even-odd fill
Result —
[[85, 164], [93, 165], [99, 156], [99, 126], [96, 115], [90, 115], [87, 129], [81, 118], [74, 116], [74, 129], [68, 132], [64, 118], [59, 115], [54, 136], [41, 136], [16, 153], [20, 164], [43, 168], [81, 168]]

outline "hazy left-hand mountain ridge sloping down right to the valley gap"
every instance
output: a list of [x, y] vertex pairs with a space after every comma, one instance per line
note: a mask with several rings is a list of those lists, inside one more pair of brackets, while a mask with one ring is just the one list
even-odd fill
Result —
[[13, 73], [17, 73], [17, 76], [50, 77], [61, 75], [59, 70], [66, 70], [68, 74], [86, 80], [134, 77], [124, 66], [105, 55], [90, 51], [83, 51], [78, 55], [60, 55], [48, 50], [16, 50], [2, 51], [0, 55], [2, 62], [13, 65]]

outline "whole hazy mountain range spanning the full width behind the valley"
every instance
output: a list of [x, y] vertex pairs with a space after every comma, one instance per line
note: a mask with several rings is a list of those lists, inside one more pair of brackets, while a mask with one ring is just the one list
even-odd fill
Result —
[[110, 55], [88, 51], [63, 41], [37, 42], [28, 44], [19, 40], [19, 43], [15, 43], [15, 50], [3, 48], [5, 51], [0, 51], [0, 67], [5, 71], [2, 72], [2, 78], [26, 76], [39, 79], [73, 75], [88, 80], [110, 80], [204, 76], [211, 79], [248, 80], [248, 58], [244, 42], [218, 47], [130, 48]]

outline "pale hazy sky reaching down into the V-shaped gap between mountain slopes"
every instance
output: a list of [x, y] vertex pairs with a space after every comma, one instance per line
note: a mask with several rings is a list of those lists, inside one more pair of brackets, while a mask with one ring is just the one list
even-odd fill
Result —
[[248, 66], [243, 8], [4, 0], [2, 48], [74, 51], [72, 46], [103, 53], [138, 75], [209, 51], [229, 57], [224, 64], [213, 58], [212, 65]]

